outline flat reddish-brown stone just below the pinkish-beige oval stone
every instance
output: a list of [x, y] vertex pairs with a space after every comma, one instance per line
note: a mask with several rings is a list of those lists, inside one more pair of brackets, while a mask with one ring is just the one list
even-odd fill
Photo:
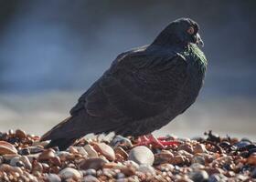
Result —
[[85, 159], [80, 162], [80, 168], [83, 170], [87, 170], [90, 168], [93, 168], [95, 170], [100, 169], [104, 166], [108, 161], [106, 159], [100, 158], [100, 157], [91, 157], [88, 159]]

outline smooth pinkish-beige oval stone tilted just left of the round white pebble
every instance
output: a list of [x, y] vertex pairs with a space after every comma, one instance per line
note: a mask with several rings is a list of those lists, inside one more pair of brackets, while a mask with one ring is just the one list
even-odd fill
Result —
[[95, 143], [93, 148], [108, 160], [113, 161], [115, 159], [115, 154], [112, 147], [106, 145], [105, 143]]

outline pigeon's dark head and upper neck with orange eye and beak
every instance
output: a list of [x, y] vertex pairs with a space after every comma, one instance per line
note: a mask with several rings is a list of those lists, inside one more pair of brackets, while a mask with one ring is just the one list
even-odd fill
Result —
[[199, 25], [190, 18], [180, 18], [170, 23], [154, 41], [157, 45], [204, 45], [198, 34]]

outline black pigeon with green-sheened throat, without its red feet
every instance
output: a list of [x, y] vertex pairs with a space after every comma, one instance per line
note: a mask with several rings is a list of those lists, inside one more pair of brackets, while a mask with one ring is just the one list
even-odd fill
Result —
[[117, 56], [70, 116], [40, 140], [64, 150], [91, 133], [144, 136], [184, 113], [197, 99], [208, 64], [198, 31], [195, 21], [179, 18], [152, 44]]

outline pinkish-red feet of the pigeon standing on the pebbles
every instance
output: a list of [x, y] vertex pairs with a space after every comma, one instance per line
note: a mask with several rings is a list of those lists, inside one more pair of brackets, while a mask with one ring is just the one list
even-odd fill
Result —
[[166, 141], [166, 137], [156, 138], [152, 134], [138, 137], [138, 143], [136, 144], [136, 146], [150, 146], [150, 145], [154, 147], [165, 148], [165, 147], [179, 146], [180, 142], [176, 140]]

